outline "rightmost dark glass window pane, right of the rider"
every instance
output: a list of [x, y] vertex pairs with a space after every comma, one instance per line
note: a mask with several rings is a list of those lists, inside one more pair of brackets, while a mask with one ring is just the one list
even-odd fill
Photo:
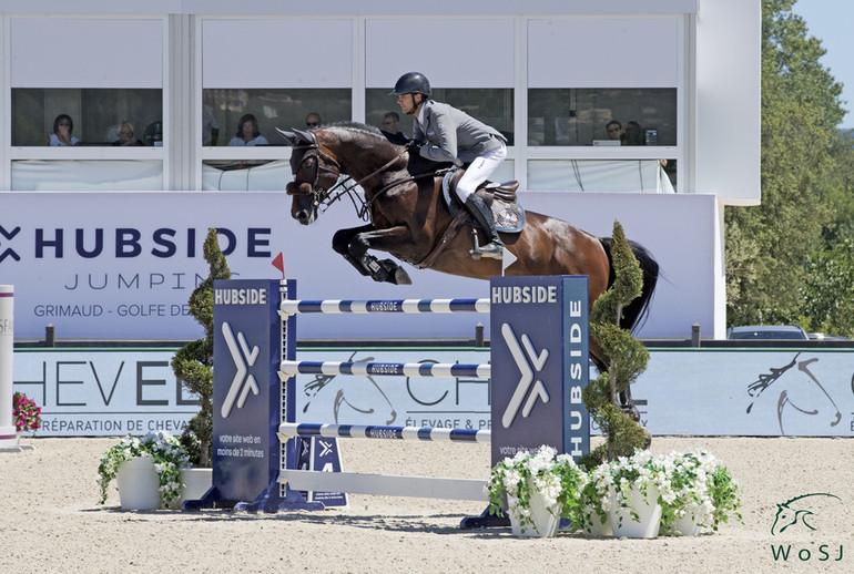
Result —
[[677, 145], [675, 88], [528, 90], [528, 145], [610, 142]]

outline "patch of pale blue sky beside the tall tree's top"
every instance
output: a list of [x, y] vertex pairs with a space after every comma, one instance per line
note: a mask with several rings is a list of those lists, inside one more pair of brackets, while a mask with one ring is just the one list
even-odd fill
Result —
[[827, 53], [822, 57], [824, 68], [843, 84], [842, 100], [848, 110], [842, 127], [854, 127], [854, 0], [797, 0], [792, 11], [804, 19], [807, 33], [822, 41]]

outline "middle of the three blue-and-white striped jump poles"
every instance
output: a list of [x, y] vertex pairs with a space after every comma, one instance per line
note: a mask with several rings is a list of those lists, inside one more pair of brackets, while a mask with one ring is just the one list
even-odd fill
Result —
[[490, 365], [449, 362], [282, 361], [279, 365], [279, 378], [287, 380], [294, 375], [471, 377], [489, 379], [492, 376], [492, 368]]

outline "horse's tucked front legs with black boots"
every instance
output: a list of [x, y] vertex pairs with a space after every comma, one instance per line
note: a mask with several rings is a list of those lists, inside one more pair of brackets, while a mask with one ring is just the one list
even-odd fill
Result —
[[[410, 285], [409, 275], [392, 259], [378, 260], [367, 253], [376, 248], [388, 250], [400, 240], [408, 240], [405, 227], [378, 230], [373, 225], [363, 225], [350, 229], [340, 229], [333, 237], [333, 249], [339, 253], [362, 275], [370, 276], [375, 281], [395, 285]], [[388, 246], [388, 247], [386, 247]]]

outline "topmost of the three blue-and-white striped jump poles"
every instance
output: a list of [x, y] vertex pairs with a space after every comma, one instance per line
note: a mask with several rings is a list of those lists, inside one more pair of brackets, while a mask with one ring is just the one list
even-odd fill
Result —
[[285, 315], [369, 314], [369, 312], [489, 312], [489, 299], [321, 299], [285, 300], [278, 310]]

